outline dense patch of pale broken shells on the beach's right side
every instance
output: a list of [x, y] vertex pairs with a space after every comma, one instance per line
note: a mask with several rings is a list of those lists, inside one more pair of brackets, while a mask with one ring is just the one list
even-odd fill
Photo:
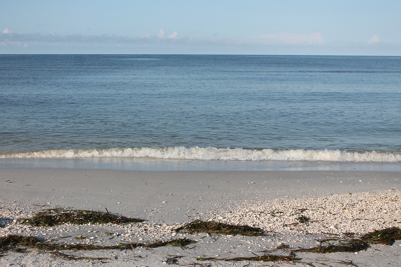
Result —
[[245, 202], [211, 218], [278, 233], [365, 234], [401, 226], [401, 191]]

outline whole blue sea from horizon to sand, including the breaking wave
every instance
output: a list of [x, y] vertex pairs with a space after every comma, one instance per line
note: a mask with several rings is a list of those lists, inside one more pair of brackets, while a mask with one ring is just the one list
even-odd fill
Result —
[[0, 55], [0, 167], [401, 170], [401, 57]]

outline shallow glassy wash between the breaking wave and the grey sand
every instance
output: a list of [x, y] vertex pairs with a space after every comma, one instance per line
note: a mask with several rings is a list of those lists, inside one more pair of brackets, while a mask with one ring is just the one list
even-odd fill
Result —
[[309, 160], [180, 160], [164, 158], [3, 158], [3, 168], [133, 171], [383, 171], [401, 172], [399, 162]]

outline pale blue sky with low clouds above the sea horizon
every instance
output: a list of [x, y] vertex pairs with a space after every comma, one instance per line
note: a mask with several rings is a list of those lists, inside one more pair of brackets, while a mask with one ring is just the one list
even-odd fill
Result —
[[401, 56], [401, 0], [2, 0], [0, 54]]

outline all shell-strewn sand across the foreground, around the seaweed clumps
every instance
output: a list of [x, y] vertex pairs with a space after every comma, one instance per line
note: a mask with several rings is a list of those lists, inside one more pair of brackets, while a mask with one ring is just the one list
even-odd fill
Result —
[[[20, 224], [18, 218], [30, 217], [34, 212], [49, 207], [32, 206], [32, 200], [1, 200], [0, 236], [26, 235], [48, 242], [80, 243], [99, 246], [119, 242], [147, 243], [155, 240], [190, 238], [198, 243], [194, 249], [134, 249], [133, 251], [97, 251], [82, 252], [90, 257], [108, 257], [109, 263], [102, 266], [163, 266], [168, 255], [180, 255], [180, 263], [196, 263], [196, 257], [241, 257], [262, 255], [259, 251], [274, 249], [286, 244], [297, 247], [316, 246], [316, 239], [328, 236], [343, 236], [347, 233], [365, 234], [373, 230], [399, 227], [401, 222], [401, 191], [381, 190], [366, 193], [332, 195], [316, 198], [265, 199], [248, 202], [231, 202], [230, 208], [196, 212], [191, 217], [201, 220], [216, 220], [224, 223], [250, 225], [266, 231], [265, 237], [220, 236], [211, 237], [200, 233], [195, 235], [176, 233], [174, 229], [188, 223], [182, 222], [166, 225], [158, 221], [129, 223], [125, 225], [72, 225], [63, 224], [54, 227], [32, 227]], [[77, 207], [79, 208], [79, 207]], [[196, 217], [198, 216], [198, 217]], [[269, 232], [273, 233], [269, 233]], [[398, 243], [396, 243], [398, 247]], [[394, 246], [393, 246], [394, 247]], [[379, 253], [379, 252], [372, 252]], [[285, 254], [285, 253], [284, 253]], [[336, 253], [334, 253], [336, 254]], [[76, 266], [66, 260], [52, 258], [46, 254], [10, 253], [0, 258], [8, 266]], [[315, 258], [320, 257], [316, 255]], [[123, 259], [123, 260], [122, 260]], [[136, 259], [135, 265], [132, 265]], [[361, 260], [362, 261], [362, 260]], [[395, 259], [397, 261], [397, 259]], [[362, 261], [363, 262], [363, 261]], [[79, 265], [96, 265], [98, 261], [79, 261]], [[245, 263], [220, 263], [216, 266], [243, 266]], [[251, 263], [249, 266], [259, 266]], [[292, 266], [288, 263], [288, 266]], [[33, 265], [32, 265], [33, 266]], [[213, 265], [214, 266], [214, 265]], [[298, 266], [298, 265], [297, 265]], [[305, 266], [305, 265], [300, 265]], [[336, 266], [336, 265], [333, 265]], [[376, 265], [379, 266], [379, 265]]]

